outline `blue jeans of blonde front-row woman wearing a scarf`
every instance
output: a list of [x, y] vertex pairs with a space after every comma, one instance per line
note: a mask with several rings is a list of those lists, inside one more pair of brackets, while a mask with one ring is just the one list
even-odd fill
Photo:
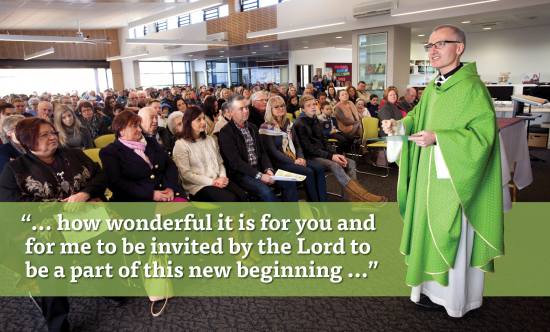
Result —
[[310, 159], [306, 159], [307, 166], [296, 164], [282, 164], [280, 168], [296, 174], [305, 175], [304, 189], [306, 190], [307, 200], [310, 202], [327, 201], [327, 182], [325, 180], [325, 168]]

